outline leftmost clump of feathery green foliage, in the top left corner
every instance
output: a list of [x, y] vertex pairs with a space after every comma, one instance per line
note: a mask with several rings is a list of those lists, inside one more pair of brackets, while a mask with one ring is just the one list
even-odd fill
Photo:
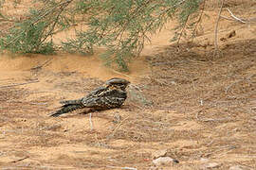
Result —
[[51, 36], [67, 28], [71, 21], [62, 15], [68, 3], [54, 1], [41, 9], [30, 9], [26, 20], [15, 22], [8, 34], [0, 38], [0, 49], [12, 53], [54, 54]]

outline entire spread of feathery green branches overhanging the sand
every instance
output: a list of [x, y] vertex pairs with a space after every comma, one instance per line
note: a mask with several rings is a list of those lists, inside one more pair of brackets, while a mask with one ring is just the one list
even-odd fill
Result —
[[[101, 55], [107, 65], [116, 63], [127, 70], [130, 59], [138, 56], [149, 36], [177, 17], [182, 30], [189, 18], [198, 14], [203, 0], [34, 0], [44, 6], [31, 10], [27, 19], [9, 29], [0, 39], [2, 49], [12, 52], [49, 53], [56, 48], [55, 33], [72, 25], [85, 25], [76, 37], [62, 42], [70, 53], [92, 54], [94, 47], [107, 50]], [[182, 33], [179, 33], [182, 35]], [[31, 40], [30, 40], [31, 39]]]

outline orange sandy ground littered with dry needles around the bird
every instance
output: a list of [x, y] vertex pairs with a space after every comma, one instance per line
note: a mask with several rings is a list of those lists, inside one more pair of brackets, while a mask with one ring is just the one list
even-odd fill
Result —
[[[255, 5], [232, 0], [225, 8], [251, 18]], [[256, 25], [221, 20], [221, 55], [213, 57], [215, 6], [207, 6], [210, 19], [193, 42], [169, 42], [168, 24], [130, 73], [104, 67], [99, 54], [2, 56], [1, 169], [185, 170], [204, 168], [202, 159], [217, 163], [214, 169], [256, 169]], [[94, 130], [82, 110], [48, 117], [60, 100], [114, 76], [132, 82], [129, 97], [120, 109], [94, 112]], [[155, 167], [160, 149], [179, 163]]]

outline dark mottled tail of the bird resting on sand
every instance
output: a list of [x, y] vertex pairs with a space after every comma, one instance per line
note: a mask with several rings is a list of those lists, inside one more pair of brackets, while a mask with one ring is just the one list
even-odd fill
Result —
[[82, 109], [84, 107], [82, 105], [82, 100], [66, 100], [60, 103], [64, 105], [59, 110], [56, 110], [55, 112], [51, 113], [51, 117], [58, 117], [59, 115], [64, 114], [66, 112]]

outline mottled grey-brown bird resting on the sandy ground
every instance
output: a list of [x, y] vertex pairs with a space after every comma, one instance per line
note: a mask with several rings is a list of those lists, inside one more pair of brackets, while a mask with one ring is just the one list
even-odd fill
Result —
[[58, 117], [64, 113], [79, 109], [110, 110], [121, 107], [127, 98], [126, 87], [130, 81], [114, 77], [107, 80], [103, 86], [93, 90], [78, 100], [65, 100], [59, 110], [50, 114], [51, 117]]

